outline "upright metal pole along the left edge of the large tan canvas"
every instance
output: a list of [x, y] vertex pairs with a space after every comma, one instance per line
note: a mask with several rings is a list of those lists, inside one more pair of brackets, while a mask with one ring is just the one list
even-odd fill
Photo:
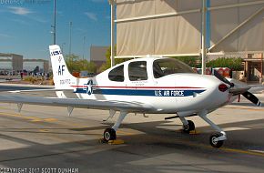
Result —
[[115, 66], [115, 1], [109, 1], [111, 5], [111, 66]]

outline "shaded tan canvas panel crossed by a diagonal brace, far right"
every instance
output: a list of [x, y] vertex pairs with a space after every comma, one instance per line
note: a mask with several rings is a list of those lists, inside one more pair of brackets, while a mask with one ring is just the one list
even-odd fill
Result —
[[[240, 5], [257, 2], [254, 0], [211, 0], [211, 6]], [[245, 22], [254, 15], [264, 4], [232, 7], [227, 9], [212, 10], [210, 15], [211, 44], [227, 36], [230, 31]], [[263, 51], [264, 50], [264, 10], [252, 17], [249, 22], [239, 27], [232, 35], [213, 48], [211, 52], [240, 52], [240, 51]]]

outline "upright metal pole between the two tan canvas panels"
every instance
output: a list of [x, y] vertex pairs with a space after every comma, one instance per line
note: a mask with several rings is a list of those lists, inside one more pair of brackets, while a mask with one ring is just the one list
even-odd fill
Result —
[[207, 36], [207, 6], [206, 0], [203, 0], [202, 6], [202, 75], [206, 74], [206, 57], [207, 57], [207, 47], [206, 47], [206, 36]]

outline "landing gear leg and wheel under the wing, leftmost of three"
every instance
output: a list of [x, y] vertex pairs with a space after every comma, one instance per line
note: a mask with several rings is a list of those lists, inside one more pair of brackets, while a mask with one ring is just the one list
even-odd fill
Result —
[[104, 142], [108, 142], [109, 140], [116, 140], [117, 139], [116, 131], [126, 116], [127, 116], [127, 112], [120, 111], [120, 115], [119, 115], [115, 125], [111, 128], [105, 129], [105, 131], [104, 131]]

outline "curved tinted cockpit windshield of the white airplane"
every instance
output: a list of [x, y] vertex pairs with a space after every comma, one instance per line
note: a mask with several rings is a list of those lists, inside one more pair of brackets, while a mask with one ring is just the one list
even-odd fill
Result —
[[174, 58], [157, 59], [153, 62], [153, 74], [155, 78], [176, 73], [195, 72], [190, 66]]

